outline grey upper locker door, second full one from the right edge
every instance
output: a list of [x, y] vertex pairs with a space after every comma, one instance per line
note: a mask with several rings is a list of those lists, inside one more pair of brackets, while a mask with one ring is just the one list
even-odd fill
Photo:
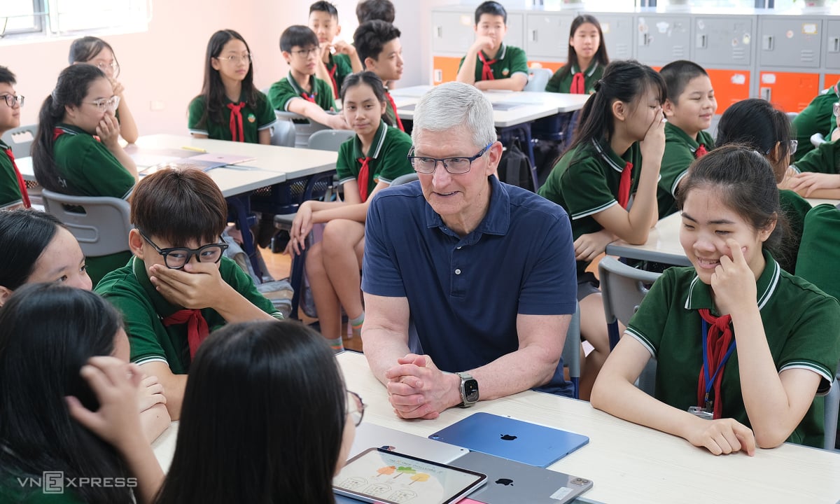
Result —
[[692, 61], [701, 66], [749, 66], [755, 36], [753, 16], [695, 16]]

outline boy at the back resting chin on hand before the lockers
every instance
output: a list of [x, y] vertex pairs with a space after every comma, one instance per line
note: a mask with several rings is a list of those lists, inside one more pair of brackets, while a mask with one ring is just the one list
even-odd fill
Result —
[[505, 34], [507, 11], [501, 3], [485, 2], [475, 8], [475, 42], [461, 58], [455, 79], [481, 91], [522, 91], [528, 84], [528, 57], [524, 50], [505, 45]]

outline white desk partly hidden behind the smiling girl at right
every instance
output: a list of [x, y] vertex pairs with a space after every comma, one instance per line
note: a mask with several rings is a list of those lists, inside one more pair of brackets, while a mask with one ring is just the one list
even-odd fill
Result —
[[[836, 205], [840, 200], [807, 198], [811, 207], [828, 203]], [[680, 245], [680, 213], [672, 213], [659, 219], [656, 226], [650, 230], [648, 241], [641, 245], [628, 244], [619, 239], [606, 245], [606, 255], [617, 255], [627, 259], [648, 260], [666, 265], [690, 266], [691, 262], [685, 257], [685, 251]], [[840, 496], [837, 496], [840, 498]]]

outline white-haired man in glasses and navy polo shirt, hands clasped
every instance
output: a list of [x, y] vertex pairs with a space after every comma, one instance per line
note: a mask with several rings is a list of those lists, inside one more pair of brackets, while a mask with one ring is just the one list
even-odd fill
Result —
[[365, 224], [362, 339], [395, 412], [430, 419], [530, 388], [570, 396], [568, 215], [494, 176], [502, 147], [475, 87], [426, 93], [412, 142], [420, 180], [377, 194]]

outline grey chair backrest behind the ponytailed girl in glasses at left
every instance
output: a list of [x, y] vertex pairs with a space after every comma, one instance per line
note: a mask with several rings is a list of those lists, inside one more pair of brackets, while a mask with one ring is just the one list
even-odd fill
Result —
[[64, 223], [88, 257], [129, 249], [129, 202], [117, 197], [68, 196], [44, 190], [44, 209]]

